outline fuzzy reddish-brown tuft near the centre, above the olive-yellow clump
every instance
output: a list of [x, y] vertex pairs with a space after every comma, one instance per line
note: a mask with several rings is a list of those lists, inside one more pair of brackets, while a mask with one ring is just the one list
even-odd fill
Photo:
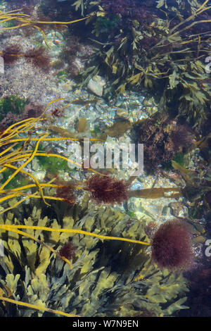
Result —
[[124, 180], [98, 174], [91, 176], [84, 187], [98, 204], [121, 204], [128, 198], [128, 188]]

